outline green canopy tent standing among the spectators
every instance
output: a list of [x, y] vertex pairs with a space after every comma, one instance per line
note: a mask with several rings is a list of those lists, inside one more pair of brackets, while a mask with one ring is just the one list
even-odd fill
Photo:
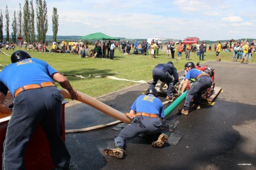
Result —
[[85, 37], [81, 37], [80, 40], [82, 39], [90, 39], [90, 40], [101, 40], [101, 55], [103, 56], [103, 40], [119, 40], [119, 51], [120, 51], [120, 38], [116, 37], [110, 37], [104, 33], [93, 33], [93, 34], [88, 34]]

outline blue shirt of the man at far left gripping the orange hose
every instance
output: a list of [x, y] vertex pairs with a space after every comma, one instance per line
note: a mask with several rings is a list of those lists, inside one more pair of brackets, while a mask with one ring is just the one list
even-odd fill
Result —
[[28, 58], [6, 66], [0, 73], [0, 81], [14, 96], [15, 91], [21, 86], [54, 82], [51, 75], [57, 72], [45, 61]]

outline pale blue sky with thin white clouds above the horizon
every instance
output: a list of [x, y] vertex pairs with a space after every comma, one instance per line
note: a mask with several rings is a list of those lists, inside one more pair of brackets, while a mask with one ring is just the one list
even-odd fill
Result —
[[[46, 2], [47, 35], [52, 35], [52, 11], [56, 7], [59, 15], [58, 35], [83, 36], [102, 32], [111, 37], [132, 39], [154, 36], [175, 39], [199, 37], [200, 40], [256, 39], [255, 0]], [[17, 12], [19, 8], [18, 3], [23, 8], [23, 0], [0, 0], [4, 25], [6, 5], [11, 25], [13, 11]], [[5, 27], [3, 32], [6, 34]]]

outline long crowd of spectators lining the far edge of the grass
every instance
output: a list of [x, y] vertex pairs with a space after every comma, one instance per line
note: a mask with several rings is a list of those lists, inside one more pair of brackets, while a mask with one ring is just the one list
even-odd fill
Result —
[[[206, 42], [201, 42], [198, 44], [183, 44], [179, 43], [176, 45], [174, 42], [168, 42], [166, 44], [158, 44], [157, 42], [148, 43], [146, 41], [143, 42], [129, 42], [129, 40], [123, 40], [121, 44], [119, 42], [114, 42], [109, 40], [106, 42], [96, 41], [94, 47], [89, 50], [88, 43], [83, 43], [81, 41], [63, 40], [62, 42], [52, 42], [52, 44], [48, 44], [48, 42], [38, 42], [38, 43], [27, 43], [26, 40], [21, 40], [19, 43], [9, 43], [9, 42], [0, 42], [0, 48], [4, 50], [15, 50], [17, 47], [23, 48], [26, 51], [38, 51], [39, 53], [68, 53], [68, 54], [78, 54], [81, 55], [82, 58], [92, 57], [92, 58], [109, 58], [111, 53], [111, 44], [114, 44], [114, 49], [112, 50], [112, 55], [114, 55], [115, 49], [119, 49], [119, 45], [121, 45], [121, 53], [124, 55], [130, 54], [141, 54], [141, 55], [150, 55], [151, 58], [155, 58], [156, 49], [162, 49], [163, 45], [167, 48], [167, 56], [168, 58], [174, 59], [174, 54], [178, 55], [178, 59], [181, 59], [181, 54], [185, 52], [185, 58], [190, 59], [190, 52], [196, 52], [196, 55], [199, 59], [204, 60], [204, 53], [206, 50], [216, 51], [216, 44], [206, 44]], [[152, 45], [154, 44], [154, 48], [152, 49]], [[131, 51], [133, 49], [133, 51]], [[149, 52], [149, 50], [151, 51]], [[252, 43], [247, 41], [239, 41], [230, 39], [227, 42], [223, 42], [221, 44], [221, 51], [228, 52], [231, 51], [233, 53], [232, 61], [239, 61], [241, 63], [249, 63], [252, 60], [252, 53], [255, 53], [256, 49], [256, 40]], [[152, 54], [153, 52], [154, 54]], [[153, 56], [153, 57], [152, 57]], [[243, 61], [244, 60], [244, 61]]]

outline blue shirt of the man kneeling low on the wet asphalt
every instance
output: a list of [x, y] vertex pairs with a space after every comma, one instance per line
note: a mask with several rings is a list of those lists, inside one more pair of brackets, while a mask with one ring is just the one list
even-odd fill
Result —
[[161, 100], [151, 94], [139, 96], [134, 104], [132, 104], [131, 110], [134, 110], [135, 112], [157, 114], [164, 118], [164, 106]]

